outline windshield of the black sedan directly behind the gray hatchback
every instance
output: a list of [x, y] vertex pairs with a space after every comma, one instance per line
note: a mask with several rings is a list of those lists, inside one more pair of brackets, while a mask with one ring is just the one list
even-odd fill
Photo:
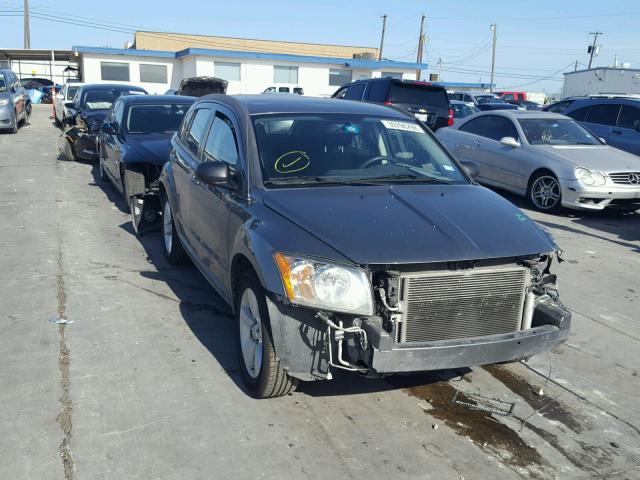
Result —
[[172, 133], [178, 130], [189, 105], [132, 105], [127, 114], [127, 133]]

